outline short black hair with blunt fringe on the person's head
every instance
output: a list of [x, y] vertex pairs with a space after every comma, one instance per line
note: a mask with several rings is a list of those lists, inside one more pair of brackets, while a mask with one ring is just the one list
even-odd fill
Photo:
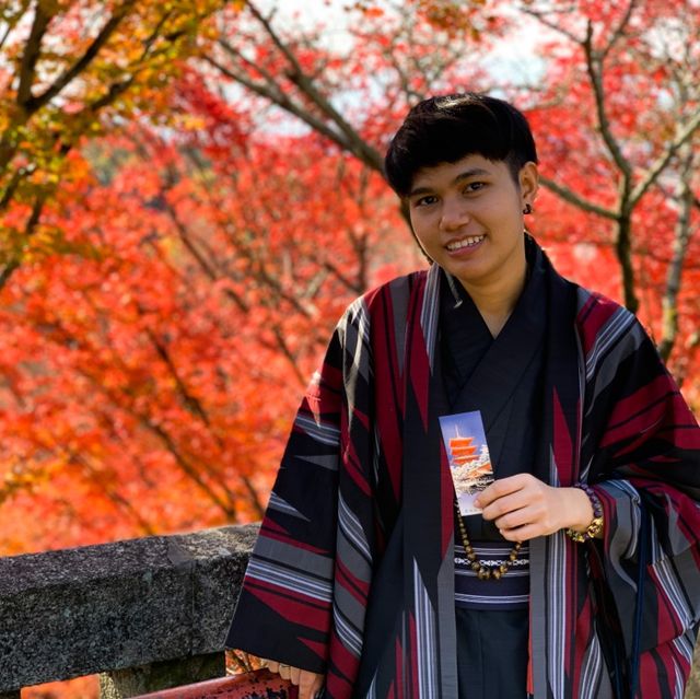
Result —
[[384, 172], [394, 191], [406, 197], [421, 167], [471, 154], [505, 161], [515, 182], [525, 163], [537, 163], [525, 116], [503, 100], [466, 92], [418, 103], [389, 143]]

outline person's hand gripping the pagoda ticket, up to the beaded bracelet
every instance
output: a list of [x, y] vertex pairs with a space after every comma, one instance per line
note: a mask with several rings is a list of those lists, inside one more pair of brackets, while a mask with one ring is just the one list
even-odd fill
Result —
[[475, 504], [509, 541], [526, 541], [562, 528], [583, 532], [593, 520], [593, 506], [583, 490], [555, 488], [530, 474], [494, 480]]

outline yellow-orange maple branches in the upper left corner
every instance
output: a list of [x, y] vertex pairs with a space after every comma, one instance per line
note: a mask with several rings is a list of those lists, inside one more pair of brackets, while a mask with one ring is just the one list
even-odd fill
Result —
[[[81, 139], [162, 102], [217, 0], [16, 0], [0, 7], [0, 287], [60, 248], [42, 221]], [[156, 107], [158, 110], [158, 107]], [[78, 167], [79, 168], [79, 167]]]

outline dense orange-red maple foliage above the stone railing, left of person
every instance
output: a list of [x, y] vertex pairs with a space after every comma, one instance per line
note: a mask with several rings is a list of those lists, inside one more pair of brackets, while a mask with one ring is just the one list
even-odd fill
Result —
[[21, 453], [35, 478], [4, 506], [45, 509], [27, 550], [258, 517], [329, 328], [408, 243], [357, 162], [314, 138], [236, 147], [234, 110], [196, 84], [178, 100], [211, 128], [182, 150], [148, 129], [103, 141], [54, 210], [98, 254], [37, 259], [4, 290], [18, 399], [0, 474]]

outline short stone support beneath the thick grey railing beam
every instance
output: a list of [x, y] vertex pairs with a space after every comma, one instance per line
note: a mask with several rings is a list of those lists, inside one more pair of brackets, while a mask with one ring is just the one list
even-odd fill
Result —
[[225, 675], [223, 652], [151, 663], [100, 675], [100, 699], [126, 699]]

